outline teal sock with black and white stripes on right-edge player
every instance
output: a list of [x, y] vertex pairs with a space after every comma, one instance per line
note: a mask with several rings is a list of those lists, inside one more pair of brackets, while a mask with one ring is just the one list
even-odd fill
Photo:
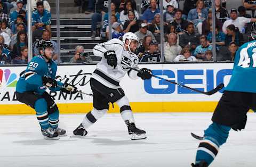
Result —
[[219, 147], [226, 143], [231, 128], [212, 123], [204, 131], [204, 140], [198, 146], [196, 153], [196, 164], [205, 161], [208, 165], [212, 163], [219, 152]]

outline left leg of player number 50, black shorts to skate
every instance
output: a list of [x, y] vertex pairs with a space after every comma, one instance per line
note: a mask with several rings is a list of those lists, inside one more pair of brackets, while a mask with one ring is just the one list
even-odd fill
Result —
[[17, 99], [19, 102], [25, 103], [35, 109], [42, 135], [45, 136], [46, 139], [59, 139], [58, 133], [50, 127], [47, 103], [42, 96], [34, 94], [33, 92], [25, 92], [17, 93]]

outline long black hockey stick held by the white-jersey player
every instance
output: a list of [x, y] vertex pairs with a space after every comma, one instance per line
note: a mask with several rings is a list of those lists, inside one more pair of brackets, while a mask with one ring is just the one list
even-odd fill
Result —
[[[139, 70], [139, 69], [131, 68], [130, 66], [127, 66], [127, 68], [129, 68], [129, 69], [131, 69], [131, 70], [134, 70], [134, 71], [137, 71], [137, 72], [140, 72], [140, 73], [143, 72], [143, 71], [141, 71], [141, 70]], [[162, 77], [155, 76], [154, 74], [151, 74], [151, 76], [152, 76], [152, 77], [155, 77], [155, 78], [158, 78], [158, 79], [161, 79], [161, 80], [165, 80], [165, 81], [170, 82], [170, 83], [172, 83], [172, 84], [174, 84], [174, 85], [178, 85], [178, 86], [180, 86], [180, 87], [187, 88], [187, 89], [196, 91], [196, 92], [201, 93], [201, 94], [204, 94], [204, 95], [209, 95], [209, 96], [210, 96], [210, 95], [213, 95], [213, 94], [215, 94], [215, 93], [217, 93], [217, 91], [221, 90], [221, 89], [224, 87], [224, 84], [222, 83], [222, 84], [218, 85], [216, 88], [214, 88], [214, 89], [212, 89], [212, 90], [210, 90], [210, 91], [201, 91], [201, 90], [197, 90], [197, 89], [195, 89], [195, 88], [188, 87], [188, 86], [186, 86], [186, 85], [182, 85], [182, 84], [177, 83], [177, 82], [173, 82], [173, 81], [164, 79], [164, 78], [162, 78]]]

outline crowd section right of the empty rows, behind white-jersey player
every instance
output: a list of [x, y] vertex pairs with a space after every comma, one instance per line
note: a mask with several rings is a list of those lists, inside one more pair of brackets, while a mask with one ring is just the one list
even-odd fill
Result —
[[[160, 13], [158, 0], [123, 0], [111, 3], [111, 38], [122, 38], [125, 32], [135, 33], [141, 40], [137, 49], [140, 62], [213, 61], [212, 57], [212, 1], [215, 1], [215, 39], [217, 60], [234, 60], [239, 46], [250, 39], [250, 27], [256, 19], [248, 10], [256, 9], [256, 1], [244, 0], [237, 9], [226, 9], [231, 0], [163, 0]], [[108, 40], [108, 1], [89, 0], [92, 7], [92, 39]], [[137, 2], [137, 3], [136, 3]], [[161, 57], [161, 16], [163, 16], [164, 57]], [[100, 31], [97, 30], [101, 23]], [[164, 60], [161, 60], [164, 59]]]

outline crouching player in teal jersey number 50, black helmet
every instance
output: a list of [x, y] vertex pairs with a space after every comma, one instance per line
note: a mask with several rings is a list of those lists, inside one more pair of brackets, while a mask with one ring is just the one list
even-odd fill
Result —
[[58, 106], [45, 90], [49, 88], [51, 91], [75, 94], [77, 88], [55, 80], [57, 64], [52, 61], [51, 41], [38, 41], [38, 50], [40, 54], [28, 63], [27, 69], [17, 82], [17, 99], [35, 109], [42, 134], [46, 139], [59, 139], [59, 136], [66, 136], [66, 130], [58, 127]]

